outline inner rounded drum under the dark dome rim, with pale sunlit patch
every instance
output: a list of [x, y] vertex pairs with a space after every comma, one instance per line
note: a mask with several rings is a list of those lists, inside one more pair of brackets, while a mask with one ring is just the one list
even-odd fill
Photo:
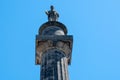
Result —
[[60, 27], [50, 26], [44, 29], [42, 35], [65, 35], [65, 33]]

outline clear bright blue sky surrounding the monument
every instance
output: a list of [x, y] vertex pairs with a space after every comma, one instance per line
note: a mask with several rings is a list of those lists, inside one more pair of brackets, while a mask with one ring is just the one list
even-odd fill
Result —
[[50, 5], [74, 36], [70, 80], [120, 80], [120, 0], [0, 0], [0, 80], [40, 80], [35, 35]]

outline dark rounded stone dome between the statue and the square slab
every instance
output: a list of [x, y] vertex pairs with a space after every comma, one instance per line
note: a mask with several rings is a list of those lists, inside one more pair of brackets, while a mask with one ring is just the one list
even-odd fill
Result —
[[57, 21], [48, 21], [39, 29], [39, 35], [66, 35], [67, 28]]

